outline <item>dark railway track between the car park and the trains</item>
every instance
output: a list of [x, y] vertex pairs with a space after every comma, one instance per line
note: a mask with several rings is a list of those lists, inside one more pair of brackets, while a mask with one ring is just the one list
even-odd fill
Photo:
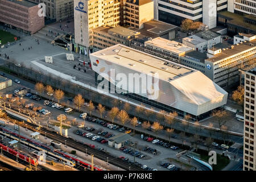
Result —
[[[75, 148], [76, 150], [79, 150], [81, 152], [86, 152], [85, 150], [85, 145], [82, 143], [78, 143], [78, 141], [71, 139], [71, 138], [66, 138], [63, 137], [61, 135], [57, 135], [55, 132], [49, 130], [49, 129], [45, 129], [43, 127], [41, 127], [40, 130], [36, 129], [36, 127], [38, 127], [38, 125], [35, 125], [33, 123], [30, 122], [26, 122], [26, 126], [23, 125], [23, 123], [19, 122], [20, 126], [26, 127], [29, 130], [32, 131], [38, 131], [40, 134], [45, 135], [45, 132], [47, 133], [47, 137], [56, 140], [57, 142], [61, 142], [64, 143], [66, 140], [67, 146]], [[126, 162], [124, 162], [121, 159], [115, 158], [111, 155], [108, 154], [103, 154], [101, 151], [98, 151], [96, 149], [90, 148], [90, 147], [86, 147], [87, 148], [87, 154], [91, 155], [93, 154], [95, 158], [101, 159], [101, 160], [106, 160], [106, 158], [109, 158], [109, 163], [113, 164], [114, 166], [123, 168], [127, 171], [142, 171], [143, 169], [141, 169], [138, 166], [135, 166], [134, 164], [128, 164]]]

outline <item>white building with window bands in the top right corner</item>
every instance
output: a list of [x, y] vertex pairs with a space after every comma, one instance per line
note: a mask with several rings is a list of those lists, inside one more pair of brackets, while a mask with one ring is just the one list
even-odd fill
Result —
[[256, 1], [254, 0], [228, 0], [228, 11], [241, 15], [256, 15]]

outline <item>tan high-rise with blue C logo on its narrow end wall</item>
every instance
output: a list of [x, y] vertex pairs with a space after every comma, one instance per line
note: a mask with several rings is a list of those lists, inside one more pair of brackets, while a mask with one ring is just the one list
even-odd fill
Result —
[[88, 55], [93, 49], [93, 29], [100, 26], [128, 25], [143, 28], [153, 19], [154, 2], [151, 0], [75, 0], [75, 51]]

